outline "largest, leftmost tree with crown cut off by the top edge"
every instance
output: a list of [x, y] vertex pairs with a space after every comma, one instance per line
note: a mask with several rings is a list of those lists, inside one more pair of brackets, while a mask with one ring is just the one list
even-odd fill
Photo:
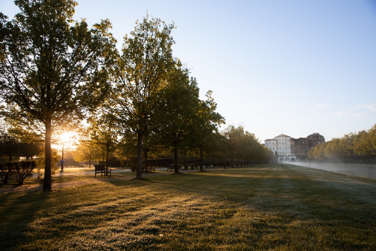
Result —
[[[89, 30], [73, 21], [73, 0], [16, 0], [21, 12], [1, 19], [0, 97], [6, 116], [41, 129], [45, 138], [44, 191], [51, 190], [53, 130], [83, 118], [97, 90], [99, 65], [106, 62], [115, 40], [102, 20]], [[73, 25], [71, 25], [73, 24]], [[89, 78], [93, 76], [93, 78]]]

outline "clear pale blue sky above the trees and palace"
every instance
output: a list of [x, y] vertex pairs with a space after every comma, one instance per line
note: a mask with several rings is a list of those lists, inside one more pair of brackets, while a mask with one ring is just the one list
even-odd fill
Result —
[[[214, 91], [227, 124], [261, 140], [327, 140], [376, 123], [376, 3], [357, 1], [78, 0], [74, 18], [110, 19], [123, 36], [148, 11], [174, 21], [174, 56]], [[9, 17], [18, 12], [0, 1]]]

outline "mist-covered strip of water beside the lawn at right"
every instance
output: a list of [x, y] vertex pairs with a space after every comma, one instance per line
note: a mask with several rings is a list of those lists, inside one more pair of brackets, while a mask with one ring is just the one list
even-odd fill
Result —
[[332, 164], [332, 163], [301, 163], [290, 162], [296, 166], [304, 166], [331, 171], [335, 173], [342, 173], [346, 175], [353, 175], [358, 177], [370, 178], [376, 180], [376, 166], [373, 165], [356, 165], [356, 164]]

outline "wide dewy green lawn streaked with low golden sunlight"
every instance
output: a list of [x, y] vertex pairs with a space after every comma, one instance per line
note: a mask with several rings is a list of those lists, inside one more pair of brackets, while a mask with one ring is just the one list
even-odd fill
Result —
[[264, 164], [7, 193], [0, 249], [375, 250], [375, 190], [374, 180]]

